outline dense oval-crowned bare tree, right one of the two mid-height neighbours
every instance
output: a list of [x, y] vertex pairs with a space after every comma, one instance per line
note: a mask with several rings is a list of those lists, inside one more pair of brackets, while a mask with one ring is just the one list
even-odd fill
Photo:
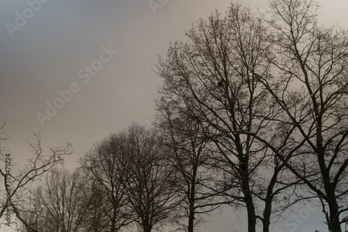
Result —
[[136, 224], [150, 232], [168, 221], [176, 206], [175, 171], [166, 163], [166, 149], [154, 130], [132, 124], [125, 134], [127, 203], [134, 210]]

